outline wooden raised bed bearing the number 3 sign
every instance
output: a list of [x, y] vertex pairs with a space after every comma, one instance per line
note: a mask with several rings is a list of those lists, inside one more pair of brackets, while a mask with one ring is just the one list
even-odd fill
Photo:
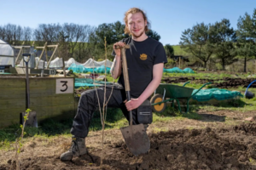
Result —
[[[30, 109], [37, 112], [38, 123], [47, 118], [73, 118], [77, 108], [73, 77], [30, 77], [29, 81]], [[24, 111], [26, 78], [0, 77], [0, 127], [19, 123], [20, 113]]]

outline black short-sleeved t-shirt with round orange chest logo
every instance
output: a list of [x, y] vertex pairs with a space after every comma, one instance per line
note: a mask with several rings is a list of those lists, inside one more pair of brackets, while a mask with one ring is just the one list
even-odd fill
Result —
[[[131, 88], [131, 98], [138, 98], [153, 78], [153, 66], [166, 63], [166, 51], [163, 45], [148, 37], [143, 42], [134, 41], [131, 37], [122, 40], [130, 45], [126, 49], [126, 60]], [[113, 51], [113, 55], [115, 55]], [[121, 73], [119, 83], [125, 87], [124, 75]]]

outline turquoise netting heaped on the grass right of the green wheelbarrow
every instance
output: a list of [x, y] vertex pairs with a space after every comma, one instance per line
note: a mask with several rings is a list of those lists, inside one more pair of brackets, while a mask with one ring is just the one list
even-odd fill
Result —
[[[193, 91], [193, 94], [197, 89]], [[225, 89], [219, 89], [219, 88], [210, 88], [210, 89], [201, 89], [195, 96], [193, 96], [193, 99], [197, 101], [208, 101], [210, 99], [217, 99], [217, 100], [224, 100], [224, 99], [234, 99], [236, 96], [243, 97], [243, 95], [240, 92], [237, 91], [229, 91]]]

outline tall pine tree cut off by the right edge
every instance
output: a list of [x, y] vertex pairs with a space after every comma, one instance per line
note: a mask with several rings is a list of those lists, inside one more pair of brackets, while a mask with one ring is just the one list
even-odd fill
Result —
[[252, 59], [256, 54], [255, 31], [256, 9], [254, 8], [252, 17], [246, 13], [243, 17], [240, 16], [237, 22], [236, 54], [244, 58], [244, 72], [247, 71], [247, 60]]

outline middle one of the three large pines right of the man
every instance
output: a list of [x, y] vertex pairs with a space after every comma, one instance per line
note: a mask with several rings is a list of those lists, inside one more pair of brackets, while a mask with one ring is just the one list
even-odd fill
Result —
[[210, 27], [214, 54], [221, 59], [222, 68], [237, 61], [234, 54], [234, 42], [236, 41], [236, 31], [230, 28], [230, 20], [223, 19]]

